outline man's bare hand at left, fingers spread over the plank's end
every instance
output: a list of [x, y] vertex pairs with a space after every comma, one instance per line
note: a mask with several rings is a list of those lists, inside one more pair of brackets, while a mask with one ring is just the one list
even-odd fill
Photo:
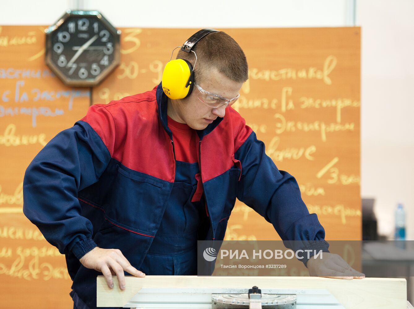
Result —
[[118, 277], [121, 290], [125, 289], [124, 271], [135, 277], [145, 277], [142, 271], [133, 267], [118, 249], [102, 249], [95, 247], [79, 260], [86, 268], [100, 271], [104, 276], [108, 287], [113, 287], [112, 275]]

